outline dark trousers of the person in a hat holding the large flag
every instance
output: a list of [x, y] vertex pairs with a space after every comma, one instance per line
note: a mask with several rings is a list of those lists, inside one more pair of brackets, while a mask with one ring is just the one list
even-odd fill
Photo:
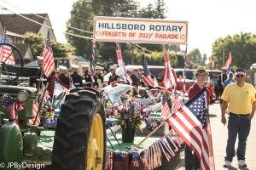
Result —
[[188, 145], [185, 146], [185, 170], [200, 169], [200, 160]]

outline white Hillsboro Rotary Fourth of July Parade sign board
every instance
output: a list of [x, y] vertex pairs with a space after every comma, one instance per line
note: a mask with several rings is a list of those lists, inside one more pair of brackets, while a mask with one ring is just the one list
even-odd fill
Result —
[[187, 44], [188, 22], [118, 17], [95, 17], [98, 42]]

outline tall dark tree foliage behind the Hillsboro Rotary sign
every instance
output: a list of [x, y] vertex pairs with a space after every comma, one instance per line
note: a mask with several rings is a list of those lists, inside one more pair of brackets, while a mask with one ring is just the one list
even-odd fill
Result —
[[[94, 16], [121, 16], [121, 17], [140, 17], [140, 18], [165, 18], [166, 8], [164, 0], [157, 0], [155, 5], [148, 4], [146, 8], [139, 8], [136, 0], [79, 0], [73, 3], [71, 17], [67, 21], [67, 26], [73, 26], [85, 31], [92, 31]], [[79, 34], [81, 36], [92, 37], [92, 35], [67, 28], [68, 32]], [[77, 48], [79, 55], [91, 55], [92, 42], [90, 39], [73, 37], [66, 35], [67, 42]], [[160, 51], [162, 47], [155, 44], [142, 44], [144, 48], [152, 51]], [[115, 54], [116, 43], [114, 42], [96, 42], [96, 60], [116, 61]], [[136, 61], [132, 55], [130, 45], [121, 43], [123, 59], [131, 64]], [[101, 56], [101, 58], [97, 57]]]

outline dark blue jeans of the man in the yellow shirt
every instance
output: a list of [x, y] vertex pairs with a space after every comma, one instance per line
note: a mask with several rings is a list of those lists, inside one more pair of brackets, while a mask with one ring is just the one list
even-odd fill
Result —
[[[228, 124], [228, 142], [226, 147], [225, 161], [233, 161], [237, 156], [238, 160], [245, 160], [247, 136], [250, 133], [251, 121], [247, 116], [230, 114]], [[238, 134], [238, 147], [235, 151], [236, 137]]]

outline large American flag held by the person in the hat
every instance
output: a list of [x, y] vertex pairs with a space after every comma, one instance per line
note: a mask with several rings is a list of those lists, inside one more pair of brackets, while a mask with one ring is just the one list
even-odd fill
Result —
[[207, 88], [203, 88], [166, 122], [195, 151], [201, 169], [215, 169], [212, 154], [212, 136], [207, 114]]

